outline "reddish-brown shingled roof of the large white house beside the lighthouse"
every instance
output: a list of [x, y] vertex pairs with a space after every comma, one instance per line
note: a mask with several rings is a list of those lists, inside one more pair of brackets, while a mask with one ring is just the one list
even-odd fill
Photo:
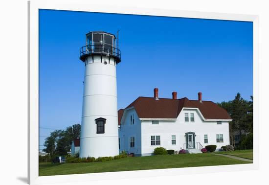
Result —
[[[138, 97], [126, 107], [133, 107], [140, 118], [177, 118], [182, 108], [199, 108], [205, 119], [231, 119], [227, 111], [212, 101], [181, 99]], [[119, 123], [123, 115], [123, 109], [118, 111]]]

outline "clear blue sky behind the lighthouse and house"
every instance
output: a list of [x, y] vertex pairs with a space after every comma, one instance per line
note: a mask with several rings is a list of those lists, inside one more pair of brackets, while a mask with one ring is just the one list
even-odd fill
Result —
[[[253, 93], [252, 22], [40, 10], [40, 145], [53, 129], [81, 123], [85, 34], [116, 35], [118, 109], [138, 96], [232, 100]], [[41, 147], [42, 148], [42, 147]]]

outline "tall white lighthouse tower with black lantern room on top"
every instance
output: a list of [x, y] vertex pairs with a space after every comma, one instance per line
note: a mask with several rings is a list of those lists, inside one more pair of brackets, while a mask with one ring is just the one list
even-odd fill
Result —
[[80, 152], [82, 157], [119, 154], [116, 66], [121, 51], [116, 37], [104, 31], [86, 34], [80, 48], [85, 64]]

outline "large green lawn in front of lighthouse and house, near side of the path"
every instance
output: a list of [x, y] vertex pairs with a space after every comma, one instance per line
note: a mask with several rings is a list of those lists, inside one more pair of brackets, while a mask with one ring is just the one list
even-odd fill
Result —
[[62, 164], [52, 164], [47, 162], [39, 164], [39, 176], [246, 163], [251, 162], [234, 160], [223, 156], [212, 155], [210, 153], [128, 157], [107, 162]]

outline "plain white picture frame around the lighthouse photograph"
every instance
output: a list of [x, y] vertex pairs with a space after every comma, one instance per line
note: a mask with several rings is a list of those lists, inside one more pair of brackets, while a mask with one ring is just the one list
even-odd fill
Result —
[[[122, 171], [109, 173], [75, 174], [58, 176], [39, 176], [38, 147], [39, 147], [39, 9], [102, 12], [118, 14], [168, 16], [181, 18], [215, 19], [230, 21], [253, 22], [253, 96], [254, 117], [253, 117], [253, 163], [236, 164], [224, 166], [205, 166], [172, 168], [157, 170]], [[71, 0], [54, 1], [28, 1], [28, 183], [71, 183], [96, 180], [112, 180], [124, 178], [143, 178], [157, 176], [171, 176], [179, 174], [230, 172], [241, 170], [258, 169], [259, 164], [259, 138], [258, 138], [258, 105], [259, 105], [259, 84], [258, 84], [258, 24], [257, 15], [226, 14], [212, 12], [179, 11], [165, 9], [149, 9], [136, 7], [105, 6], [92, 4], [87, 0], [79, 2]]]

